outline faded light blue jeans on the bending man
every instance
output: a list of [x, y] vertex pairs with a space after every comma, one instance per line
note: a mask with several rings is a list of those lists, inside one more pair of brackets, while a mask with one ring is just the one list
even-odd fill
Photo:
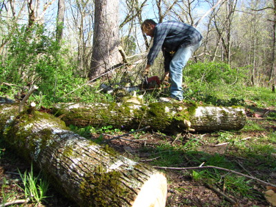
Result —
[[170, 61], [170, 97], [181, 101], [183, 99], [182, 90], [182, 76], [183, 68], [186, 66], [188, 59], [193, 55], [199, 46], [201, 41], [195, 46], [188, 48], [179, 48]]

